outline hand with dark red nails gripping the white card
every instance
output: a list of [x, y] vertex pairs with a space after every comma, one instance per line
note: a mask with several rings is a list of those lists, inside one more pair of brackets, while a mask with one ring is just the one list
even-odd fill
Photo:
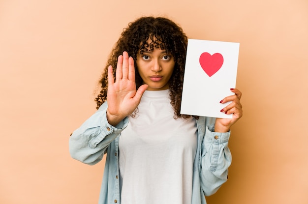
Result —
[[216, 118], [215, 132], [228, 132], [230, 127], [243, 116], [242, 104], [240, 99], [242, 92], [236, 88], [230, 88], [234, 95], [225, 97], [220, 101], [224, 104], [227, 102], [231, 103], [221, 110], [225, 114], [233, 114], [232, 118]]

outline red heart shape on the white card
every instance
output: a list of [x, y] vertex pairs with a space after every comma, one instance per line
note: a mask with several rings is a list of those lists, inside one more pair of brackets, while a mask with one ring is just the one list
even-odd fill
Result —
[[209, 77], [212, 77], [222, 66], [223, 57], [220, 53], [211, 55], [210, 53], [202, 53], [199, 58], [200, 65]]

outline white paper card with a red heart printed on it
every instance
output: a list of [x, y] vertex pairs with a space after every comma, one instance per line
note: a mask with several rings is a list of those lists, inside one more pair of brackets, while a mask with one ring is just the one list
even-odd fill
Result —
[[181, 114], [232, 118], [220, 112], [234, 95], [239, 43], [188, 39]]

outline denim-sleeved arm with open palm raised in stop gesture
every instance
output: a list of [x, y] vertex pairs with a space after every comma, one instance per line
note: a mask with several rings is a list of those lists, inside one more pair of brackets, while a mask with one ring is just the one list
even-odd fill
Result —
[[134, 60], [127, 52], [118, 57], [115, 75], [116, 80], [110, 65], [107, 92], [109, 106], [103, 103], [92, 117], [73, 132], [69, 140], [71, 156], [83, 163], [93, 165], [103, 158], [108, 145], [127, 126], [127, 116], [136, 110], [148, 87], [142, 85], [136, 90]]

